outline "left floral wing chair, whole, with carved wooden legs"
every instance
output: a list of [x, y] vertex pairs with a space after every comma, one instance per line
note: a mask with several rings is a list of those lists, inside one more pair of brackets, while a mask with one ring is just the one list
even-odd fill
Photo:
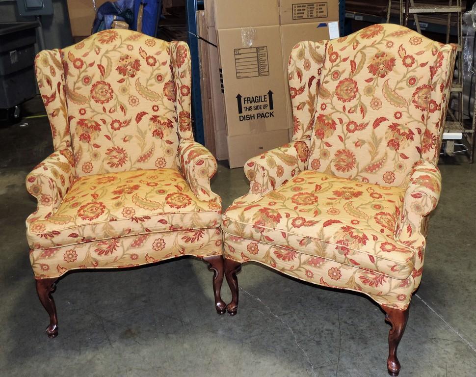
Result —
[[223, 280], [216, 161], [193, 141], [190, 53], [130, 30], [105, 30], [42, 51], [36, 75], [54, 153], [26, 177], [38, 209], [26, 220], [40, 301], [58, 332], [55, 281], [193, 255]]

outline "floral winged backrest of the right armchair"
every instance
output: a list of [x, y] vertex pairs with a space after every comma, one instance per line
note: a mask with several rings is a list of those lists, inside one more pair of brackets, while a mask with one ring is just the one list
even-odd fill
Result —
[[293, 139], [311, 139], [308, 168], [401, 186], [422, 157], [438, 162], [454, 51], [393, 24], [296, 45]]

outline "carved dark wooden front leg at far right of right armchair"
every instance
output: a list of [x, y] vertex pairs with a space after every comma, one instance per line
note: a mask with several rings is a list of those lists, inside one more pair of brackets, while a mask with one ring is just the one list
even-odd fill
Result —
[[382, 309], [387, 313], [385, 321], [390, 323], [392, 326], [388, 334], [389, 353], [387, 369], [390, 376], [398, 376], [398, 373], [400, 372], [400, 362], [397, 358], [397, 347], [407, 324], [408, 308], [406, 308], [406, 310], [399, 310], [382, 305]]

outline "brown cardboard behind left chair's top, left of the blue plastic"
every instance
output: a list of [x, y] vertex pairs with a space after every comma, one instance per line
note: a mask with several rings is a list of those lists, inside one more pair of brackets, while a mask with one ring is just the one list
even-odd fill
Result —
[[[107, 0], [96, 0], [99, 8]], [[91, 35], [96, 11], [91, 0], [68, 0], [68, 13], [71, 23], [71, 34], [76, 36]]]

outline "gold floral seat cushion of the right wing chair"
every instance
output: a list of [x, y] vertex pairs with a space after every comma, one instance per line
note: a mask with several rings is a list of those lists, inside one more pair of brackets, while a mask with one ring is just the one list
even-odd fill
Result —
[[248, 258], [264, 242], [284, 248], [269, 258], [302, 253], [405, 279], [415, 251], [395, 240], [404, 192], [306, 170], [254, 203], [237, 199], [222, 229], [252, 241]]

